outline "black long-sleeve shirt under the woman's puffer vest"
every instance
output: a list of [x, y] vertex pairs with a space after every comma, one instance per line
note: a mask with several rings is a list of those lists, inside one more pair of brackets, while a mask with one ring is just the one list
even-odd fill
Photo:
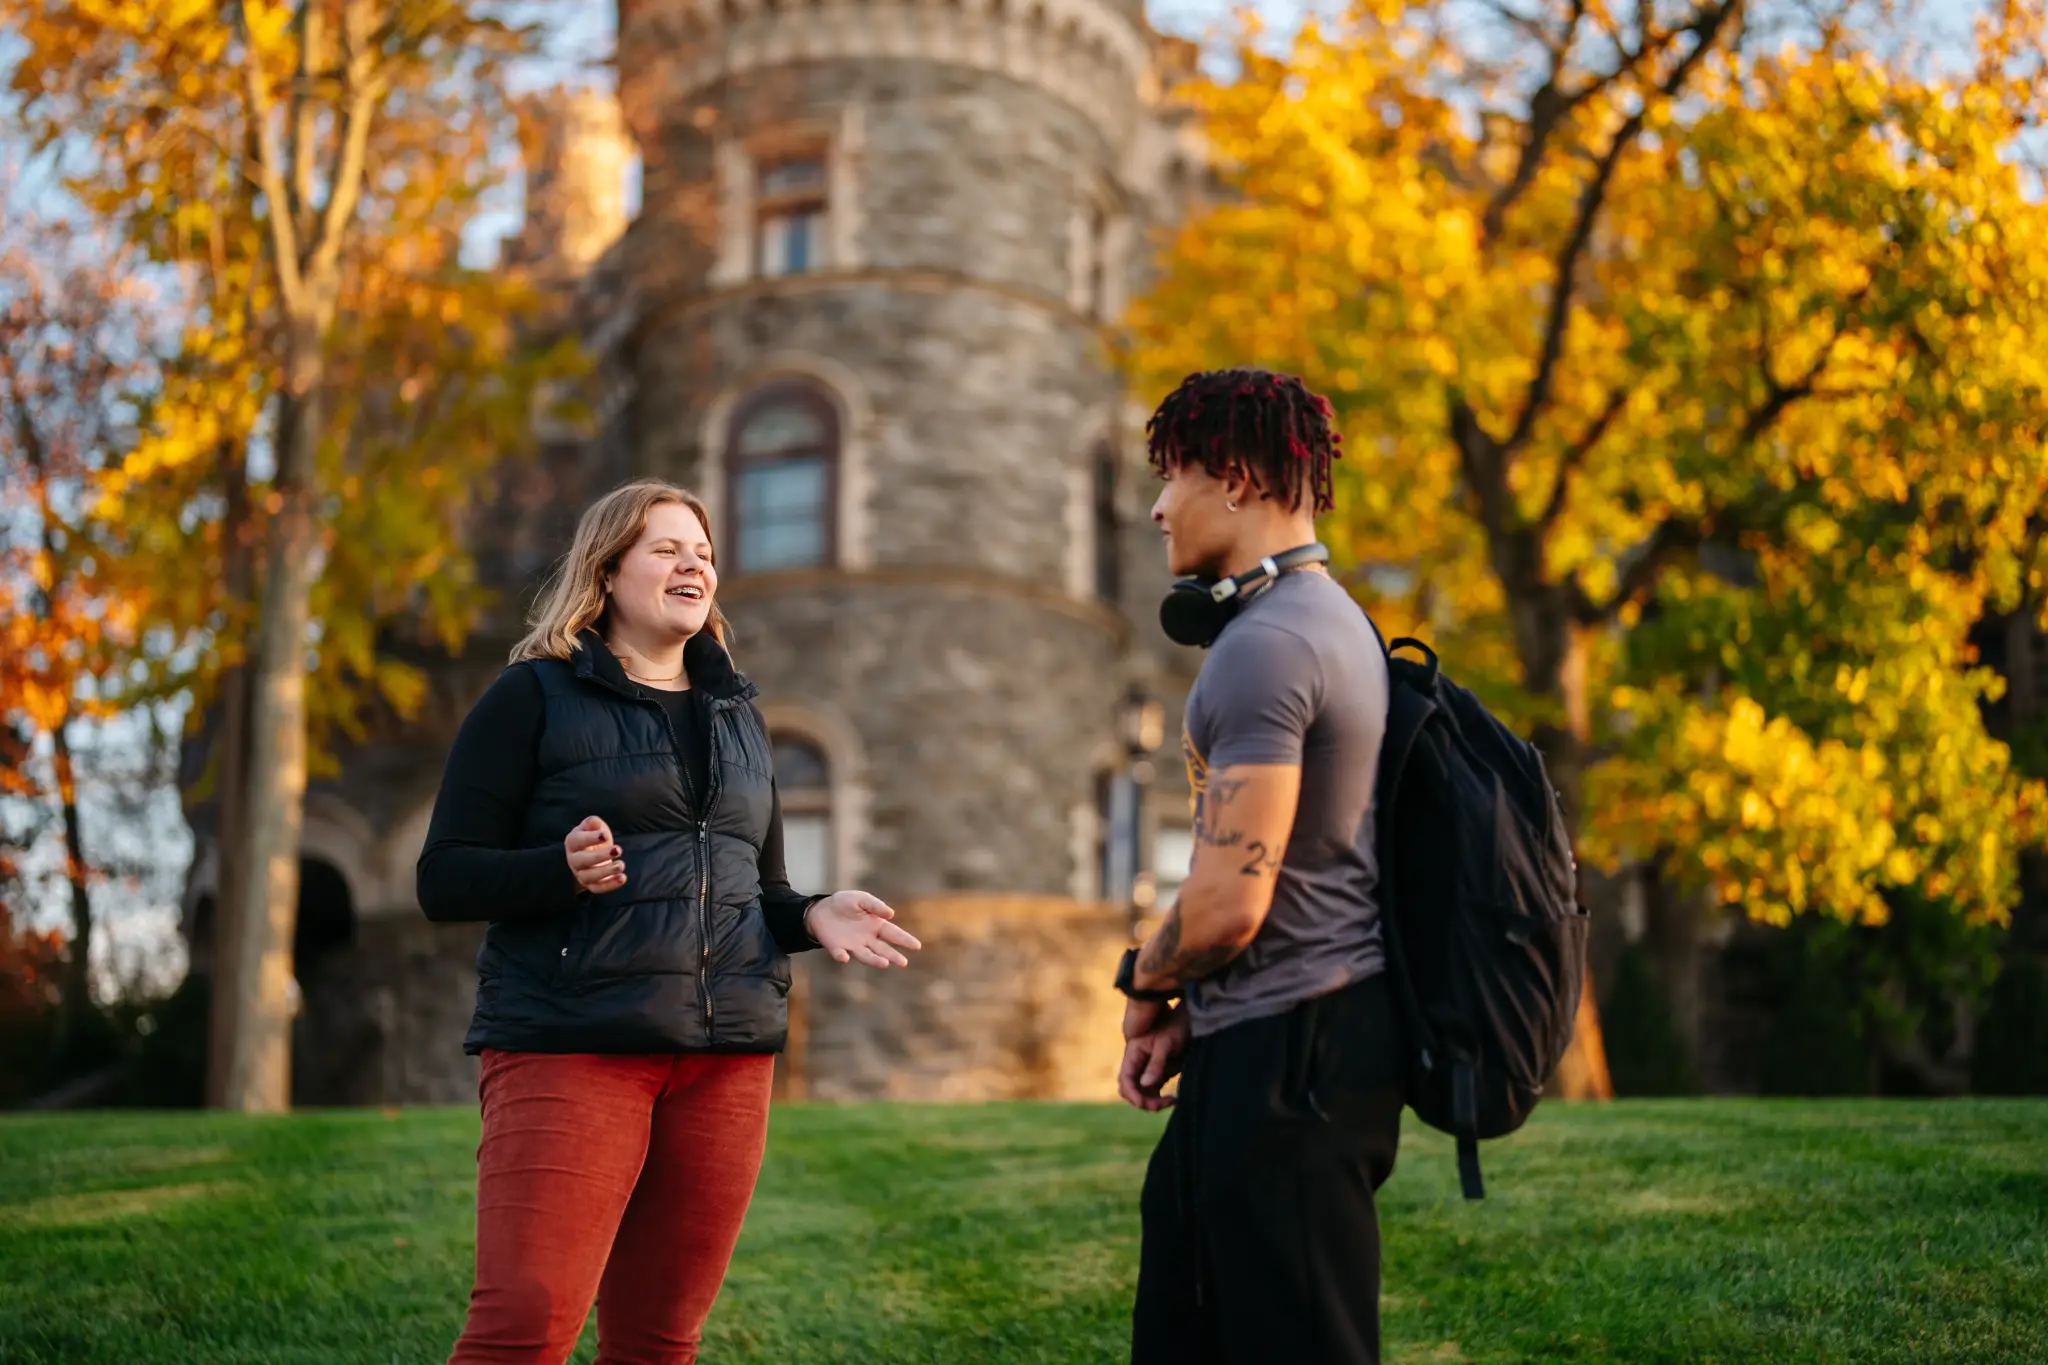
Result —
[[[684, 782], [692, 794], [709, 784], [711, 745], [688, 692], [657, 692], [676, 731]], [[582, 888], [569, 870], [561, 831], [553, 843], [522, 847], [526, 804], [539, 780], [543, 726], [541, 679], [532, 669], [498, 675], [463, 720], [440, 776], [434, 817], [420, 851], [420, 909], [436, 923], [545, 919], [575, 907]], [[803, 925], [819, 896], [788, 884], [782, 855], [782, 798], [768, 817], [760, 853], [762, 911], [784, 952], [815, 948]]]

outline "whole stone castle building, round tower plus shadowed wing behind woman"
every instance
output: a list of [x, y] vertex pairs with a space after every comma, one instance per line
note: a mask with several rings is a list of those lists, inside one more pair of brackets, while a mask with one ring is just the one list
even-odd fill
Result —
[[[512, 254], [573, 280], [600, 430], [508, 475], [479, 561], [516, 600], [618, 479], [702, 493], [793, 880], [874, 890], [926, 941], [907, 974], [805, 964], [784, 1093], [1112, 1093], [1133, 882], [1143, 905], [1188, 855], [1171, 765], [1139, 800], [1196, 659], [1153, 624], [1106, 350], [1196, 180], [1176, 70], [1141, 0], [621, 0], [623, 129], [600, 96], [526, 111]], [[305, 1099], [473, 1093], [475, 935], [424, 925], [410, 866], [514, 634], [436, 665], [428, 714], [309, 798], [352, 927], [301, 952]]]

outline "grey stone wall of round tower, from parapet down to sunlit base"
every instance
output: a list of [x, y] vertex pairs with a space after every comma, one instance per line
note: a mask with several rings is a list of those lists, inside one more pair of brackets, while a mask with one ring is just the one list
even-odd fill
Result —
[[766, 702], [858, 735], [858, 864], [874, 890], [1061, 894], [1120, 692], [1122, 626], [1063, 598], [1073, 475], [1118, 395], [1067, 305], [1067, 229], [1077, 174], [1106, 172], [1110, 149], [1020, 82], [805, 63], [705, 92], [713, 117], [678, 106], [649, 215], [688, 235], [709, 221], [717, 139], [840, 127], [848, 104], [862, 108], [860, 266], [711, 293], [674, 280], [641, 342], [643, 467], [717, 489], [711, 417], [788, 356], [856, 389], [842, 395], [858, 424], [842, 532], [862, 544], [842, 559], [870, 569], [729, 577], [741, 667]]

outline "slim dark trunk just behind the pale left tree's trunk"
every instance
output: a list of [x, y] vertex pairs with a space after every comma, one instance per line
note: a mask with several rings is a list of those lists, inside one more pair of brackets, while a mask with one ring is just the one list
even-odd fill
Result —
[[242, 941], [242, 825], [248, 808], [248, 739], [250, 739], [250, 679], [248, 679], [248, 608], [252, 600], [252, 538], [250, 538], [250, 497], [248, 497], [248, 452], [244, 448], [223, 448], [221, 463], [227, 473], [227, 516], [221, 524], [221, 579], [225, 589], [225, 610], [229, 626], [236, 630], [233, 663], [221, 669], [221, 755], [213, 776], [215, 810], [215, 882], [213, 882], [213, 935], [207, 943], [211, 968], [211, 1019], [207, 1027], [207, 1105], [227, 1103], [229, 1040], [236, 1036], [236, 999], [240, 982], [236, 978], [236, 950]]

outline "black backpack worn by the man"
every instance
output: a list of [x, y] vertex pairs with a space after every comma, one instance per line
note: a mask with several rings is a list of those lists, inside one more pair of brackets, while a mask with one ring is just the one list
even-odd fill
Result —
[[1458, 1140], [1464, 1197], [1483, 1199], [1479, 1142], [1522, 1128], [1571, 1044], [1587, 915], [1536, 745], [1444, 677], [1421, 641], [1386, 645], [1386, 673], [1380, 923], [1409, 1027], [1409, 1107]]

